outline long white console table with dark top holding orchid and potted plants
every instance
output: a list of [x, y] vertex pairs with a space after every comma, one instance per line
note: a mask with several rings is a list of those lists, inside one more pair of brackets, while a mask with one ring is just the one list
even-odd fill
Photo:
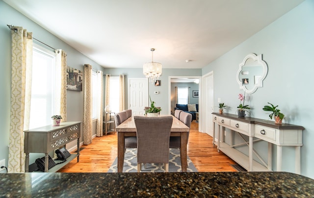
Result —
[[[277, 171], [282, 167], [282, 147], [293, 146], [295, 148], [295, 173], [301, 173], [301, 149], [303, 126], [293, 124], [275, 124], [272, 121], [250, 117], [238, 117], [234, 114], [212, 113], [213, 121], [213, 145], [217, 146], [218, 152], [221, 150], [239, 165], [248, 171], [272, 171], [272, 144], [277, 146]], [[215, 124], [218, 125], [218, 141], [215, 142]], [[222, 130], [220, 129], [222, 127]], [[231, 145], [224, 141], [221, 131], [224, 128], [231, 129]], [[244, 143], [233, 145], [234, 132], [244, 140]], [[249, 141], [245, 141], [242, 136], [248, 136]], [[256, 150], [253, 149], [253, 143], [264, 140], [268, 142], [268, 162], [264, 162]], [[235, 149], [237, 146], [247, 145], [249, 156]], [[253, 160], [253, 153], [262, 161], [262, 164]]]

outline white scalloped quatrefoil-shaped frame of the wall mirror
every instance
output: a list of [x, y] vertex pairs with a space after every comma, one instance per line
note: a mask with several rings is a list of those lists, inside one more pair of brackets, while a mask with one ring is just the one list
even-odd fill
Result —
[[[239, 79], [239, 74], [242, 71], [242, 67], [245, 66], [245, 62], [247, 61], [247, 59], [252, 58], [253, 61], [257, 61], [257, 63], [259, 65], [262, 66], [263, 68], [263, 74], [260, 77], [259, 81], [257, 83], [254, 84], [254, 87], [250, 90], [248, 90], [245, 85], [242, 84], [242, 82]], [[240, 85], [240, 90], [244, 90], [246, 93], [248, 94], [253, 94], [257, 88], [262, 87], [263, 86], [263, 80], [265, 79], [266, 75], [268, 72], [268, 67], [265, 61], [262, 60], [262, 54], [260, 55], [256, 55], [255, 53], [250, 53], [247, 56], [245, 56], [245, 58], [243, 59], [243, 62], [239, 64], [239, 70], [236, 73], [236, 81], [237, 83]]]

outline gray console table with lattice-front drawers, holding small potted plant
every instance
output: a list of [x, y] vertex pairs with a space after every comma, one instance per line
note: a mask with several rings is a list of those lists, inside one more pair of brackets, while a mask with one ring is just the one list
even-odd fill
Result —
[[[25, 172], [28, 172], [29, 153], [45, 153], [45, 172], [56, 172], [77, 157], [79, 161], [79, 128], [81, 122], [64, 122], [59, 126], [42, 126], [24, 131]], [[48, 153], [73, 140], [78, 140], [78, 151], [71, 154], [67, 161], [48, 170]]]

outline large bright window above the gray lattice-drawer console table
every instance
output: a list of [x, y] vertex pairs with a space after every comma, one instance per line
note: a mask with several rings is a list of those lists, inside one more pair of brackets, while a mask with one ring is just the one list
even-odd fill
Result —
[[34, 44], [29, 128], [51, 124], [54, 69], [54, 52]]

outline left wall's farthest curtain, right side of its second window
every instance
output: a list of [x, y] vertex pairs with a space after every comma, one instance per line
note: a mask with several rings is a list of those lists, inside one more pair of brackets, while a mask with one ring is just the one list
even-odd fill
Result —
[[101, 137], [103, 136], [103, 111], [104, 111], [104, 107], [103, 107], [104, 84], [103, 84], [103, 72], [102, 71], [97, 72], [97, 83], [98, 83], [98, 86], [97, 86], [98, 105], [97, 106], [99, 106], [99, 109], [97, 111], [96, 136]]

